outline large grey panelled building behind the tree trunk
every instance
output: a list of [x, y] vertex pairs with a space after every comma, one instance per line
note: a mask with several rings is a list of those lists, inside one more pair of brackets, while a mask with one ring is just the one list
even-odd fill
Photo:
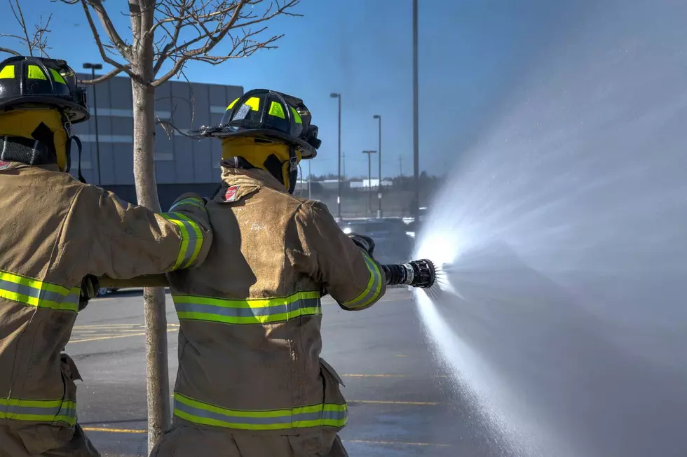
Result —
[[[89, 79], [90, 74], [79, 78]], [[95, 87], [95, 94], [93, 93]], [[88, 183], [113, 190], [136, 202], [133, 175], [133, 108], [131, 81], [115, 77], [87, 87], [91, 117], [74, 125], [83, 143], [81, 171]], [[156, 89], [155, 109], [160, 120], [182, 131], [201, 125], [217, 125], [226, 106], [243, 94], [243, 87], [168, 81]], [[95, 106], [97, 104], [97, 154]], [[211, 195], [219, 185], [219, 141], [197, 141], [174, 132], [168, 136], [156, 126], [155, 168], [163, 209], [183, 192]], [[100, 156], [100, 160], [98, 160]], [[72, 148], [72, 174], [76, 175], [76, 147]], [[100, 171], [100, 174], [99, 174]]]

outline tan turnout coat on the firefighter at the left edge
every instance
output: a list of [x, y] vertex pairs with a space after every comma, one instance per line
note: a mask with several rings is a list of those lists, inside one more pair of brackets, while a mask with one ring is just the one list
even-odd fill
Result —
[[69, 442], [76, 423], [80, 377], [61, 352], [83, 277], [195, 265], [212, 233], [197, 196], [155, 214], [54, 165], [0, 162], [0, 193], [0, 426], [41, 454]]

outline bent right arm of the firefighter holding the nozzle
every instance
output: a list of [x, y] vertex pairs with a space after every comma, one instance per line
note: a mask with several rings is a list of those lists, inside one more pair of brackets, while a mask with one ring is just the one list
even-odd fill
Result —
[[304, 202], [295, 221], [302, 246], [302, 255], [295, 256], [299, 266], [342, 308], [365, 309], [384, 295], [386, 278], [379, 263], [341, 232], [325, 205]]

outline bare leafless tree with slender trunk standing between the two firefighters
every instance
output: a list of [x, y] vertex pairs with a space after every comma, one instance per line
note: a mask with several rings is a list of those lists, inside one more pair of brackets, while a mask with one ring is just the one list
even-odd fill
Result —
[[[189, 62], [217, 65], [276, 47], [283, 35], [264, 36], [264, 22], [296, 16], [291, 10], [300, 0], [128, 0], [129, 39], [116, 29], [104, 0], [60, 1], [81, 6], [100, 57], [113, 67], [81, 82], [100, 83], [119, 73], [131, 78], [136, 195], [138, 204], [160, 211], [154, 165], [156, 87], [182, 73]], [[219, 51], [221, 42], [228, 46]], [[163, 289], [144, 289], [144, 303], [150, 450], [170, 422]]]

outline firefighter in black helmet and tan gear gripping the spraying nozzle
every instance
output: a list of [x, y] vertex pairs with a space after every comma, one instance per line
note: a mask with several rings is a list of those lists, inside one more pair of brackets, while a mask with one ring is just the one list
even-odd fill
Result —
[[215, 239], [203, 265], [168, 274], [179, 371], [174, 423], [151, 456], [346, 456], [320, 297], [350, 311], [379, 300], [374, 244], [292, 195], [299, 161], [320, 146], [301, 99], [252, 90], [193, 134], [222, 141], [222, 185], [206, 205]]

